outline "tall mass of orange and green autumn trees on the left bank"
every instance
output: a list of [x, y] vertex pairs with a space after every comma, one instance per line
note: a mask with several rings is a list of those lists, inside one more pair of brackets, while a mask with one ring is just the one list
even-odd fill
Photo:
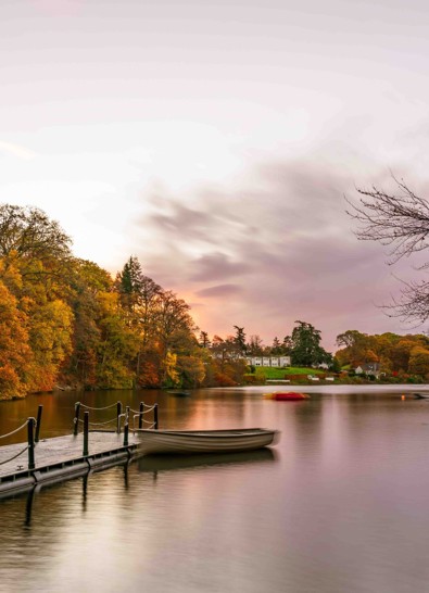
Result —
[[71, 244], [42, 211], [0, 206], [0, 396], [202, 380], [189, 306], [136, 257], [112, 278]]

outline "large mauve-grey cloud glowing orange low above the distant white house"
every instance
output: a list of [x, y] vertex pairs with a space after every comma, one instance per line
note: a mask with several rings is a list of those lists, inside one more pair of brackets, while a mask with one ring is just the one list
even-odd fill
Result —
[[399, 288], [386, 253], [357, 241], [344, 193], [356, 194], [354, 182], [335, 167], [266, 162], [234, 187], [200, 187], [187, 205], [179, 194], [153, 201], [136, 238], [149, 227], [159, 249], [138, 255], [156, 281], [190, 295], [212, 333], [239, 325], [270, 343], [302, 319], [332, 350], [346, 329], [401, 332], [376, 306]]

